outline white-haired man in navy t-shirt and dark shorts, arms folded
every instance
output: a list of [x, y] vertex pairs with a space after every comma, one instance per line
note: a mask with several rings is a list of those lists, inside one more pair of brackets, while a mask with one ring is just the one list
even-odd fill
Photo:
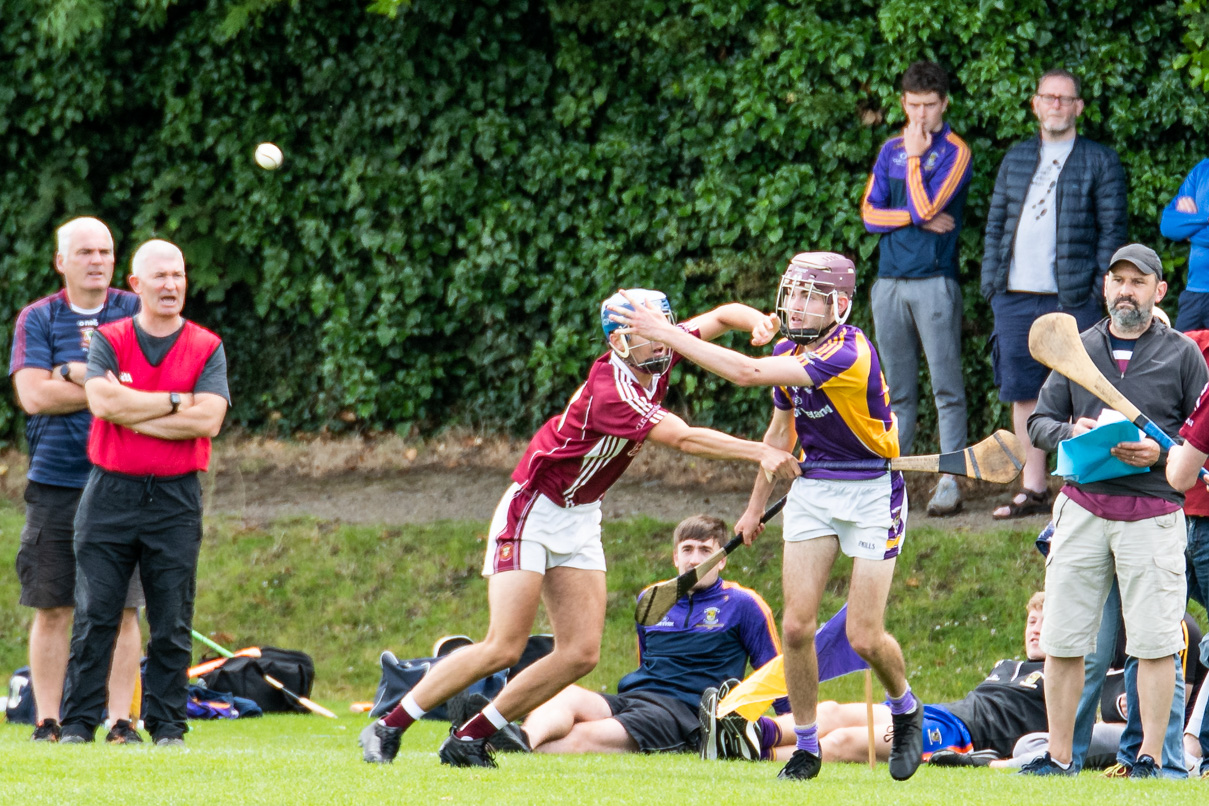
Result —
[[[68, 667], [71, 614], [75, 607], [73, 521], [88, 481], [88, 425], [92, 414], [83, 393], [85, 361], [93, 331], [138, 313], [139, 298], [109, 288], [114, 277], [114, 238], [103, 222], [80, 218], [57, 232], [54, 271], [63, 290], [22, 309], [13, 332], [8, 375], [17, 402], [28, 414], [29, 472], [25, 527], [17, 552], [21, 603], [34, 608], [29, 628], [29, 669], [37, 702], [33, 738], [59, 738], [59, 704]], [[137, 740], [131, 706], [139, 673], [138, 605], [143, 591], [127, 591], [121, 632], [109, 679], [108, 737]]]

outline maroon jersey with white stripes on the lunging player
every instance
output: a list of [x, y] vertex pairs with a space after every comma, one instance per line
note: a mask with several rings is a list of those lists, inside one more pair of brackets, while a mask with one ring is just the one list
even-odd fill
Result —
[[[671, 366], [679, 360], [673, 355]], [[598, 501], [664, 418], [661, 404], [671, 366], [648, 390], [613, 350], [596, 359], [567, 408], [530, 440], [513, 481], [537, 489], [559, 506]]]

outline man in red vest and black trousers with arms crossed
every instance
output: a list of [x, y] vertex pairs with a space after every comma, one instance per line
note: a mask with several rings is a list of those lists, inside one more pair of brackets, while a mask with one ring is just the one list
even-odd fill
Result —
[[85, 393], [96, 416], [75, 522], [76, 615], [63, 706], [64, 743], [91, 742], [121, 601], [114, 582], [135, 564], [146, 592], [144, 723], [157, 746], [184, 744], [186, 669], [202, 543], [210, 439], [226, 416], [226, 354], [218, 336], [181, 317], [185, 259], [149, 240], [131, 260], [141, 309], [97, 330]]

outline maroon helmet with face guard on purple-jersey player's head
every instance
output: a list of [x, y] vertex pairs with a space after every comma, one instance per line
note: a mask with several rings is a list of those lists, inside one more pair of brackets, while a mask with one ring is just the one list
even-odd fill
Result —
[[[781, 277], [776, 292], [776, 315], [781, 334], [794, 344], [809, 344], [833, 325], [848, 321], [852, 307], [840, 313], [839, 297], [851, 302], [856, 288], [852, 261], [833, 253], [803, 253], [796, 255]], [[812, 306], [823, 301], [822, 309]]]

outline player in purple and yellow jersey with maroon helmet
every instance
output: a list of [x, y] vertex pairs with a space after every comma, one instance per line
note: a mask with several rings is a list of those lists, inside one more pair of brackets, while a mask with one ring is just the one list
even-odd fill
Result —
[[[777, 315], [787, 338], [769, 358], [751, 358], [673, 332], [643, 305], [615, 309], [614, 318], [626, 325], [626, 332], [660, 341], [740, 385], [774, 387], [773, 421], [764, 434], [768, 445], [789, 450], [800, 442], [808, 462], [889, 459], [898, 456], [898, 429], [878, 353], [858, 327], [844, 324], [855, 288], [856, 269], [843, 255], [796, 255], [777, 292]], [[770, 481], [756, 480], [747, 511], [735, 524], [745, 541], [763, 529], [760, 512], [771, 492]], [[902, 650], [884, 624], [906, 521], [899, 472], [805, 470], [789, 489], [782, 637], [797, 750], [781, 770], [782, 778], [814, 778], [822, 764], [815, 628], [820, 598], [841, 550], [854, 558], [848, 637], [885, 686], [893, 717], [890, 775], [902, 781], [919, 766], [922, 708], [907, 684]]]

